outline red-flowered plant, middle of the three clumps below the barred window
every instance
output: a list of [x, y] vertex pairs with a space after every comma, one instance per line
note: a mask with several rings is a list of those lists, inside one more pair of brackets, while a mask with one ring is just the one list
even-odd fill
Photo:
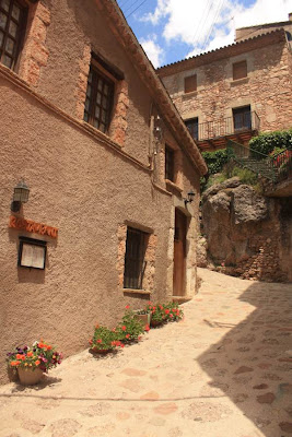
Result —
[[136, 314], [127, 305], [121, 322], [116, 329], [119, 340], [128, 343], [137, 341], [145, 330], [149, 330], [149, 326], [145, 327], [141, 320], [138, 320]]

